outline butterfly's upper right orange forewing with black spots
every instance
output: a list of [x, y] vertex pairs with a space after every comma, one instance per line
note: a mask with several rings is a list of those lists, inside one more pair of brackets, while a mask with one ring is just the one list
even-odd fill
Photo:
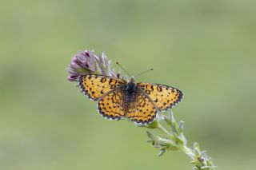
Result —
[[138, 83], [137, 86], [154, 101], [160, 111], [171, 109], [174, 105], [177, 105], [183, 97], [183, 93], [180, 90], [166, 85]]

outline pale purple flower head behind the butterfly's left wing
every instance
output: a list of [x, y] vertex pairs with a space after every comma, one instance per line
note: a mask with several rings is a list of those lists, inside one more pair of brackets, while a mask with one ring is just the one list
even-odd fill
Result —
[[85, 50], [72, 57], [67, 68], [69, 81], [77, 81], [79, 76], [86, 74], [102, 74], [105, 76], [117, 77], [114, 69], [110, 69], [110, 60], [104, 53], [95, 55], [94, 51]]

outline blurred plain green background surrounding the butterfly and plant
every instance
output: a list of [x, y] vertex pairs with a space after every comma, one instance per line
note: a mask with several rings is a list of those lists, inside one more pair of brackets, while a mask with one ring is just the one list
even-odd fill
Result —
[[[137, 81], [182, 89], [174, 108], [218, 169], [254, 169], [254, 0], [0, 2], [0, 169], [192, 169], [146, 144], [146, 129], [107, 121], [66, 80], [80, 50], [106, 52]], [[116, 65], [114, 65], [115, 68]]]

